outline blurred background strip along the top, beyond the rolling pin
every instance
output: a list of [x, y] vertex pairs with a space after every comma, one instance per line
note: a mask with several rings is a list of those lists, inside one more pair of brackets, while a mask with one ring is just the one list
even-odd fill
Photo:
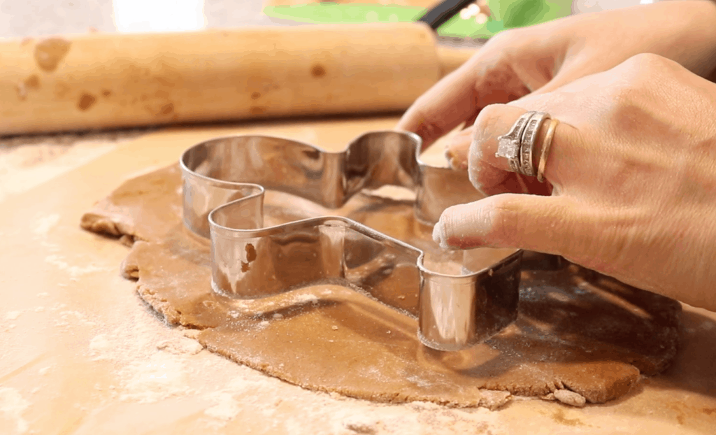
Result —
[[[505, 28], [536, 24], [559, 16], [652, 1], [480, 0], [443, 24], [438, 34], [485, 38]], [[2, 0], [0, 37], [95, 31], [178, 32], [318, 22], [414, 21], [427, 8], [439, 3], [440, 0]]]

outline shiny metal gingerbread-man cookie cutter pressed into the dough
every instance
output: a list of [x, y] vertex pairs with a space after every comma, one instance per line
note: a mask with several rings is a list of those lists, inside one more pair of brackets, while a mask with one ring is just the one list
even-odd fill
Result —
[[415, 214], [425, 222], [475, 199], [465, 173], [423, 163], [420, 145], [412, 133], [376, 131], [339, 153], [258, 135], [185, 150], [184, 224], [211, 238], [213, 290], [256, 299], [333, 282], [417, 316], [430, 348], [459, 350], [498, 333], [517, 317], [521, 251], [476, 271], [465, 251], [465, 274], [450, 275], [428, 270], [420, 249], [352, 219], [263, 226], [264, 188], [335, 209], [362, 189], [404, 186], [415, 191]]

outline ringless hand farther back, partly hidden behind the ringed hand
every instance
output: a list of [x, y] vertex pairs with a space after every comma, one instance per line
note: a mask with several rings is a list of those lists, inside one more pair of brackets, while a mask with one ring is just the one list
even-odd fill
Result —
[[[643, 52], [706, 77], [716, 70], [714, 23], [714, 1], [664, 1], [502, 32], [422, 95], [397, 129], [419, 134], [427, 147], [461, 123], [472, 125], [486, 105], [550, 92]], [[472, 130], [455, 142], [469, 144]]]

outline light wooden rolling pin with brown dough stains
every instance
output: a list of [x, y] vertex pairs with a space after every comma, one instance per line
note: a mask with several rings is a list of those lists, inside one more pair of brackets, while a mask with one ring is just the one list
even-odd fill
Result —
[[0, 42], [0, 135], [404, 110], [473, 50], [427, 25]]

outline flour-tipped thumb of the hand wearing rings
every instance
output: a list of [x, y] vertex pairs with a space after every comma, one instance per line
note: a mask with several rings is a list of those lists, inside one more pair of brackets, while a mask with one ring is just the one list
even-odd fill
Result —
[[579, 257], [591, 242], [583, 209], [564, 196], [503, 193], [445, 209], [432, 238], [443, 249], [521, 248]]

